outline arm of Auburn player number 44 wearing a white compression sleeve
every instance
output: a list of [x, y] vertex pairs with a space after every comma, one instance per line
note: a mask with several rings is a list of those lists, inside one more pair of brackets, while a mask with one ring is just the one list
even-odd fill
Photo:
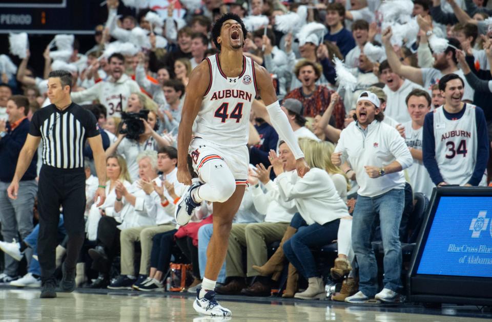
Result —
[[273, 87], [272, 77], [264, 67], [255, 64], [254, 68], [256, 85], [260, 92], [261, 99], [265, 105], [267, 105], [267, 112], [270, 116], [272, 126], [275, 128], [275, 131], [277, 131], [278, 136], [287, 143], [292, 153], [294, 153], [294, 157], [297, 160], [297, 174], [300, 177], [304, 177], [306, 172], [309, 171], [309, 166], [304, 160], [304, 154], [299, 147], [297, 138], [294, 135], [294, 131], [292, 131], [287, 116], [280, 109], [277, 94], [275, 94], [275, 89]]

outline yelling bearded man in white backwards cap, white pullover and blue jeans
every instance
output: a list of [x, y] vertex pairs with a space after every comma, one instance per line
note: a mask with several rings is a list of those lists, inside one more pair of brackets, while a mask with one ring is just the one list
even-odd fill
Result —
[[[352, 247], [359, 264], [359, 292], [345, 298], [345, 302], [363, 303], [376, 298], [392, 303], [398, 299], [396, 291], [401, 288], [399, 227], [405, 194], [403, 169], [411, 166], [413, 160], [398, 131], [381, 122], [384, 115], [376, 94], [362, 92], [355, 115], [356, 122], [342, 131], [332, 154], [334, 165], [350, 163], [359, 184], [352, 224]], [[379, 293], [372, 234], [367, 233], [377, 215], [384, 247], [384, 288]]]

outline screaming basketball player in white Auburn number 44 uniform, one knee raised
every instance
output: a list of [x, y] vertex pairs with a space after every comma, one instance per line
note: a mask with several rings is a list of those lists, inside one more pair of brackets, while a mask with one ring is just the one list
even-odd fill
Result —
[[[226, 257], [232, 220], [248, 178], [247, 144], [251, 103], [257, 92], [275, 130], [296, 157], [300, 177], [309, 171], [289, 121], [280, 109], [270, 74], [242, 54], [247, 30], [239, 16], [224, 14], [212, 38], [220, 54], [209, 56], [190, 75], [178, 132], [178, 181], [190, 185], [176, 204], [176, 222], [186, 225], [201, 201], [213, 202], [214, 234], [207, 249], [207, 267], [193, 307], [198, 313], [230, 316], [215, 300], [215, 283]], [[265, 113], [266, 114], [266, 113]], [[193, 159], [200, 182], [187, 169]]]

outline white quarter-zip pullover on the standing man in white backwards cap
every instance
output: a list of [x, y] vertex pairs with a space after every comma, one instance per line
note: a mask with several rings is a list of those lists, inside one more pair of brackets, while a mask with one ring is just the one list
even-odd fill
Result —
[[348, 124], [340, 134], [335, 152], [342, 153], [342, 163], [348, 159], [359, 184], [357, 194], [364, 197], [376, 197], [391, 189], [405, 187], [403, 171], [370, 178], [364, 166], [384, 167], [398, 161], [402, 169], [406, 169], [413, 164], [405, 140], [396, 128], [376, 120], [367, 126], [365, 135], [358, 122]]

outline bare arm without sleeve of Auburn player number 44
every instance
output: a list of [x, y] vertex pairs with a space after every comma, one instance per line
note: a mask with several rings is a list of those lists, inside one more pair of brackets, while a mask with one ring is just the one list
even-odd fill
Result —
[[178, 130], [178, 174], [177, 179], [185, 185], [191, 185], [188, 171], [187, 156], [190, 146], [193, 122], [200, 111], [203, 95], [207, 92], [210, 82], [210, 68], [203, 60], [190, 75], [186, 87], [186, 98], [181, 111], [181, 122]]

